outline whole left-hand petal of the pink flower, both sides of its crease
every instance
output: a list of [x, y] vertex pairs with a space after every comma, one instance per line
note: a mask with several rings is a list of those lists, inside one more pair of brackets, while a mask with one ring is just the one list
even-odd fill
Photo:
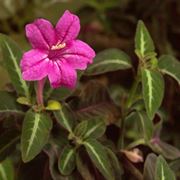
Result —
[[48, 74], [49, 59], [47, 55], [38, 50], [30, 50], [21, 60], [22, 77], [27, 81], [41, 80]]

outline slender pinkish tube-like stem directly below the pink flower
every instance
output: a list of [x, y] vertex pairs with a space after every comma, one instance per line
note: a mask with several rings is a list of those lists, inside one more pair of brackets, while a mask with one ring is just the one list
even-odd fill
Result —
[[38, 106], [44, 107], [44, 101], [43, 101], [43, 89], [46, 79], [41, 79], [37, 83], [37, 91], [36, 91], [36, 99]]

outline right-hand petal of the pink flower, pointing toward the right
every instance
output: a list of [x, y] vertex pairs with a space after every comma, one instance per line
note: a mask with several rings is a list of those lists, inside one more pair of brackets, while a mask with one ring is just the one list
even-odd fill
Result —
[[91, 64], [95, 57], [94, 50], [86, 43], [80, 40], [72, 41], [61, 53], [67, 63], [74, 69], [84, 70], [88, 64]]

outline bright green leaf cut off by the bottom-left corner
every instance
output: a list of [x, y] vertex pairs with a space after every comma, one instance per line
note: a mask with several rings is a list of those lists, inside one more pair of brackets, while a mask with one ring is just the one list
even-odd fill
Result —
[[0, 163], [0, 179], [14, 180], [14, 167], [9, 158]]

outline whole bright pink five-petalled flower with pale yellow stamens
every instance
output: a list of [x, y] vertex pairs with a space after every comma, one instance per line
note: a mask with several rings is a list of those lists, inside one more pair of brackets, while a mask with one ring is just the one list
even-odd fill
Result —
[[55, 28], [45, 19], [27, 24], [26, 36], [33, 49], [22, 57], [23, 79], [39, 81], [48, 76], [53, 88], [74, 88], [76, 69], [86, 69], [95, 56], [89, 45], [76, 40], [79, 31], [79, 18], [69, 11], [65, 11]]

